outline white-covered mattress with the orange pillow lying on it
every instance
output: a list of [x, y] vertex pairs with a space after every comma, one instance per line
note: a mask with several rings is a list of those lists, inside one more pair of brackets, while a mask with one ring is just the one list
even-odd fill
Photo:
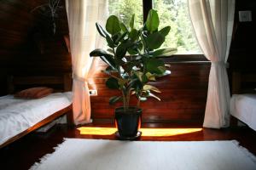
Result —
[[55, 93], [41, 99], [0, 97], [0, 144], [72, 104], [72, 93]]

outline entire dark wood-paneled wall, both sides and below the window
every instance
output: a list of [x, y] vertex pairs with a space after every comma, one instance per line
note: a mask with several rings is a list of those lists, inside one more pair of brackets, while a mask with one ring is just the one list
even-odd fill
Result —
[[[1, 0], [0, 95], [7, 93], [7, 75], [58, 75], [71, 71], [71, 57], [63, 38], [68, 34], [65, 8], [58, 13], [55, 35], [50, 33], [49, 20], [37, 11], [32, 12], [33, 8], [47, 1]], [[64, 1], [61, 5], [64, 6]], [[255, 6], [254, 0], [236, 0], [230, 71], [256, 68]], [[252, 10], [253, 22], [238, 22], [239, 10]], [[149, 99], [142, 104], [144, 122], [202, 123], [210, 63], [199, 56], [187, 57], [166, 59], [166, 63], [172, 65], [172, 75], [155, 84], [162, 91], [162, 101]], [[105, 87], [106, 75], [100, 71], [104, 67], [101, 63], [96, 76], [90, 78], [90, 88], [98, 90], [98, 96], [91, 97], [92, 118], [95, 121], [113, 121], [113, 109], [117, 106], [108, 105], [109, 97], [119, 92]]]

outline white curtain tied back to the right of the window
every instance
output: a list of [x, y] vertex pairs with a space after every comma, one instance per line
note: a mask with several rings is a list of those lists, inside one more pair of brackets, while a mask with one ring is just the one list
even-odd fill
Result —
[[189, 14], [202, 52], [211, 60], [204, 127], [230, 124], [230, 88], [226, 71], [235, 0], [189, 0]]

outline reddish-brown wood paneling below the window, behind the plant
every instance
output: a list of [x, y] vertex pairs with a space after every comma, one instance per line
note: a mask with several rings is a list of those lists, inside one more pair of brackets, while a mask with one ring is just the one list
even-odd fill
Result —
[[[143, 122], [197, 122], [203, 121], [206, 101], [207, 82], [210, 63], [205, 59], [201, 62], [189, 62], [188, 60], [177, 62], [176, 58], [165, 59], [166, 64], [171, 65], [172, 74], [161, 77], [158, 82], [152, 84], [160, 88], [161, 101], [148, 99], [141, 103], [143, 108]], [[108, 78], [101, 72], [106, 65], [100, 62], [96, 76], [90, 78], [90, 88], [98, 90], [97, 96], [91, 97], [92, 118], [95, 121], [112, 121], [113, 111], [117, 105], [108, 105], [108, 99], [113, 95], [119, 95], [118, 90], [111, 90], [105, 86]], [[136, 105], [136, 99], [131, 99], [131, 105]]]

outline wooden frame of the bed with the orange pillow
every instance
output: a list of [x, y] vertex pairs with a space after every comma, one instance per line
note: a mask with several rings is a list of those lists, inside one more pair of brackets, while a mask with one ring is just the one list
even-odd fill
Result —
[[[38, 77], [14, 77], [10, 76], [8, 78], [8, 90], [9, 94], [15, 93], [15, 87], [19, 85], [25, 85], [27, 88], [32, 88], [34, 85], [37, 86], [45, 86], [51, 87], [59, 85], [61, 89], [55, 89], [55, 92], [67, 92], [71, 91], [72, 89], [72, 76], [71, 74], [64, 74], [63, 76], [38, 76]], [[46, 117], [41, 122], [38, 122], [32, 127], [29, 127], [22, 133], [19, 133], [12, 137], [11, 139], [7, 140], [5, 143], [0, 145], [0, 149], [4, 146], [14, 142], [17, 139], [20, 139], [21, 137], [25, 136], [27, 133], [31, 133], [32, 131], [38, 129], [39, 127], [43, 127], [49, 122], [54, 121], [56, 118], [63, 116], [64, 114], [67, 114], [67, 124], [73, 125], [73, 111], [72, 111], [72, 105], [67, 106], [66, 108], [62, 109], [61, 111], [57, 111], [51, 116]]]

